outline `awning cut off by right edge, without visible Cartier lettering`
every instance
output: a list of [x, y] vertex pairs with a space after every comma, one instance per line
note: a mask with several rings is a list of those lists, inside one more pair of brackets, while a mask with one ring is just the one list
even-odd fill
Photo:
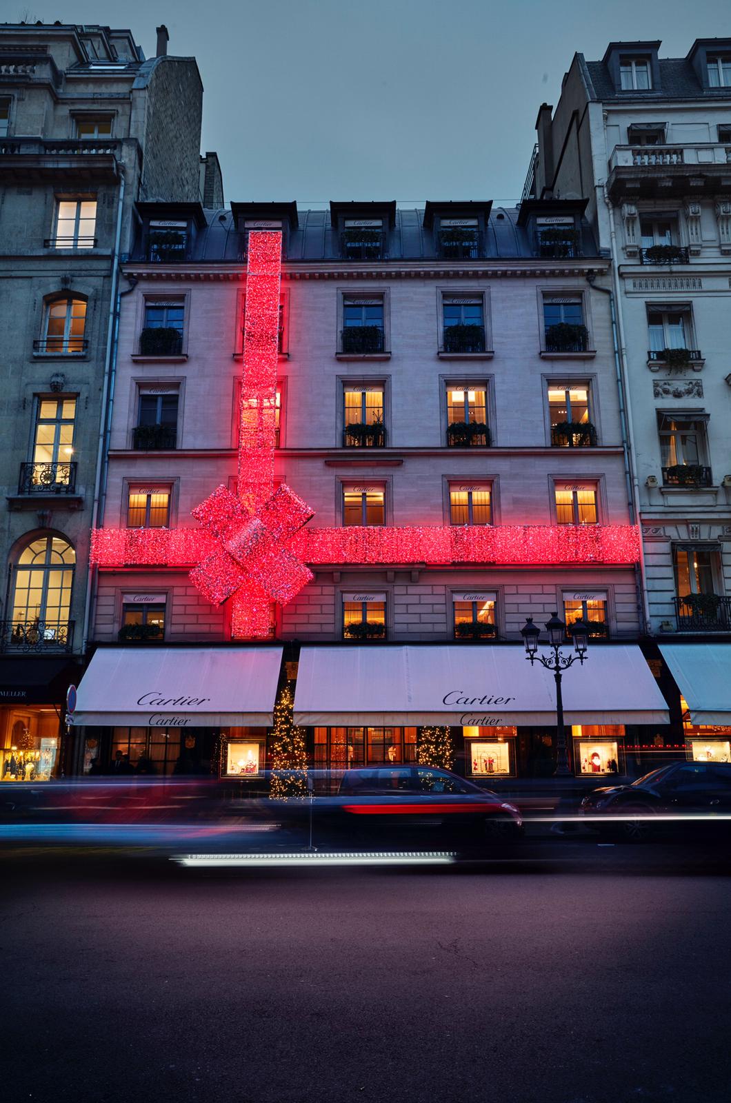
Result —
[[731, 644], [661, 643], [660, 654], [686, 698], [691, 722], [731, 727]]

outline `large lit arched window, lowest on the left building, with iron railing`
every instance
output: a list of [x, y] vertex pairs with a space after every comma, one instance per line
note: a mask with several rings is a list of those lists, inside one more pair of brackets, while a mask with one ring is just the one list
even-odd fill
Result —
[[21, 552], [15, 567], [10, 646], [66, 647], [76, 553], [61, 536], [39, 536]]

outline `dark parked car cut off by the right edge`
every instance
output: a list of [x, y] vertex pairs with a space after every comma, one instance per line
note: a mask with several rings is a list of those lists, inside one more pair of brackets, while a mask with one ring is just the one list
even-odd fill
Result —
[[686, 825], [708, 825], [716, 818], [718, 826], [719, 816], [731, 814], [731, 762], [670, 762], [631, 785], [595, 789], [581, 802], [581, 811], [606, 816], [600, 827], [631, 839], [671, 829], [684, 818]]

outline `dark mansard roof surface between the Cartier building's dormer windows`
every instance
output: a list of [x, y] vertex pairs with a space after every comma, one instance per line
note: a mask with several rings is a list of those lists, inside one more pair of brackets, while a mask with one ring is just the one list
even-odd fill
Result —
[[[568, 201], [573, 211], [582, 205], [581, 200]], [[272, 204], [274, 207], [276, 204]], [[174, 205], [146, 203], [138, 204], [152, 214], [162, 207], [172, 212]], [[179, 205], [180, 210], [184, 204]], [[241, 264], [244, 259], [244, 237], [239, 231], [239, 218], [242, 207], [247, 204], [232, 203], [232, 211], [205, 211], [205, 226], [194, 235], [190, 246], [189, 263]], [[263, 218], [264, 204], [252, 204], [253, 217]], [[288, 204], [282, 204], [288, 206]], [[462, 205], [460, 205], [462, 207]], [[541, 210], [550, 213], [550, 204], [542, 203]], [[563, 211], [563, 203], [562, 203]], [[485, 259], [530, 259], [536, 257], [536, 249], [526, 226], [518, 223], [520, 207], [494, 207], [489, 212], [484, 235]], [[561, 212], [559, 212], [561, 213]], [[435, 260], [437, 259], [436, 243], [433, 231], [424, 228], [423, 207], [399, 207], [395, 211], [393, 228], [386, 240], [386, 259], [389, 260]], [[584, 257], [596, 257], [597, 249], [591, 227], [582, 222], [582, 254]], [[133, 253], [133, 259], [142, 259], [139, 251], [140, 243]], [[297, 261], [341, 260], [340, 240], [337, 227], [328, 210], [299, 211], [295, 226], [289, 227], [286, 240], [286, 259]], [[468, 261], [469, 263], [469, 261]]]

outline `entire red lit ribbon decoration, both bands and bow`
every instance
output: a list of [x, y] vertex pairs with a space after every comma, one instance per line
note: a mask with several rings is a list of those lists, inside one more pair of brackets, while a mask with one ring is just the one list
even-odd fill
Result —
[[312, 575], [306, 564], [427, 566], [629, 565], [634, 525], [411, 525], [304, 528], [312, 510], [288, 486], [274, 492], [282, 234], [248, 235], [240, 411], [239, 496], [219, 486], [193, 510], [200, 528], [99, 528], [99, 567], [192, 567], [206, 600], [232, 599], [232, 635], [271, 632], [271, 607], [290, 601]]

